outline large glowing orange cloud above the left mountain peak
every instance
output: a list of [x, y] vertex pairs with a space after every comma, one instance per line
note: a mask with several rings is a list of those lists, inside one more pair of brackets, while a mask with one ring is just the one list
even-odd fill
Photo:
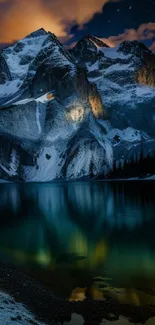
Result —
[[7, 0], [0, 0], [0, 42], [9, 43], [21, 39], [41, 27], [62, 40], [67, 40], [72, 25], [82, 27], [110, 1], [12, 0], [11, 5], [6, 6]]

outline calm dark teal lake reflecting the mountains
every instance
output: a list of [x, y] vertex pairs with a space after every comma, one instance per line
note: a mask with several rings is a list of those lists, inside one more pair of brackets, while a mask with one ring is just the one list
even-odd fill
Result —
[[0, 262], [70, 300], [155, 304], [155, 182], [0, 184]]

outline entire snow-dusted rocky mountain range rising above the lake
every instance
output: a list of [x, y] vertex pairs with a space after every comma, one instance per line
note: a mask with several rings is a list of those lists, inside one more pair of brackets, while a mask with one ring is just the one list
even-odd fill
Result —
[[35, 31], [0, 51], [0, 178], [95, 177], [155, 149], [155, 54]]

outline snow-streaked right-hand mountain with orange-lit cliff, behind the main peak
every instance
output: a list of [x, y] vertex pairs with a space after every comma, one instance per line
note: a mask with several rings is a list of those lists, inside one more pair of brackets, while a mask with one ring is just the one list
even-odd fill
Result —
[[[74, 50], [77, 53], [76, 46]], [[93, 63], [83, 60], [83, 65], [89, 82], [97, 86], [113, 127], [132, 126], [154, 136], [155, 55], [136, 41], [96, 51]]]

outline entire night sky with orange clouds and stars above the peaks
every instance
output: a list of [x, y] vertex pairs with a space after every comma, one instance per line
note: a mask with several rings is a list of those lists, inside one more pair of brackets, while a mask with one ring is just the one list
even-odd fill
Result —
[[155, 50], [155, 0], [0, 0], [0, 43], [43, 27], [67, 46], [86, 34], [110, 46], [139, 40]]

